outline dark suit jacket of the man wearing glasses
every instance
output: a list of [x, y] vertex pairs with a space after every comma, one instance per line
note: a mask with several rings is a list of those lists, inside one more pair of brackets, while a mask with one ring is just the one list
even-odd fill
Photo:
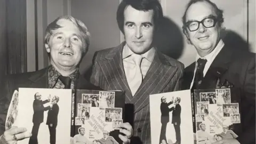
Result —
[[[189, 89], [194, 69], [195, 62], [185, 69], [185, 89]], [[252, 139], [248, 139], [248, 135], [255, 139], [255, 54], [225, 45], [212, 62], [199, 89], [215, 89], [218, 77], [221, 83], [227, 79], [242, 90], [243, 133], [238, 138], [245, 140], [241, 143], [250, 143]]]

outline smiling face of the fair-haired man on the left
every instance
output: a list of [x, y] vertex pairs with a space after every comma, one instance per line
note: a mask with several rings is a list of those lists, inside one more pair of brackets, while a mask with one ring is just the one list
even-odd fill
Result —
[[82, 59], [82, 33], [73, 22], [60, 19], [60, 28], [52, 31], [49, 43], [45, 44], [46, 51], [51, 55], [51, 64], [58, 69], [75, 69]]

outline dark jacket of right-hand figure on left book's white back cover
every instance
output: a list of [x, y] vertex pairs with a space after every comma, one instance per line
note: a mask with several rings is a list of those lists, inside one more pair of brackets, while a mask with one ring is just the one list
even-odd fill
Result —
[[56, 103], [48, 111], [46, 124], [47, 125], [53, 124], [53, 125], [57, 126], [57, 124], [58, 124], [58, 114], [59, 114], [59, 106]]

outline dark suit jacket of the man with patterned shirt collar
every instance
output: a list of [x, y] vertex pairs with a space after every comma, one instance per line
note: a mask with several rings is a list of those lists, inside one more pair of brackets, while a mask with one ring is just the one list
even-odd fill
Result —
[[[5, 131], [5, 119], [14, 90], [18, 90], [19, 87], [47, 88], [47, 69], [6, 76], [4, 86], [0, 87], [0, 135]], [[83, 76], [79, 76], [75, 86], [76, 89], [101, 90], [99, 87], [86, 81]]]

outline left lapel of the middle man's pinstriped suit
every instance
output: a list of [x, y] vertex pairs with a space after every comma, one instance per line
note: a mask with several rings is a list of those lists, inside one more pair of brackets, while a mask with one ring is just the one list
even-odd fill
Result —
[[110, 51], [105, 59], [99, 60], [99, 65], [102, 69], [104, 77], [107, 79], [109, 85], [108, 90], [121, 90], [125, 91], [126, 100], [131, 101], [132, 93], [126, 80], [123, 60], [122, 60], [122, 50], [125, 43], [115, 47]]

